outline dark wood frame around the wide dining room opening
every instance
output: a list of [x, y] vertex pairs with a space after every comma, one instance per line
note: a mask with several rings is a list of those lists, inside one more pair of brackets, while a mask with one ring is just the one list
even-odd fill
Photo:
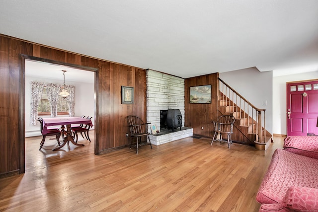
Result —
[[[69, 63], [63, 63], [59, 61], [54, 61], [54, 60], [48, 60], [44, 58], [38, 58], [38, 57], [33, 57], [33, 56], [28, 56], [28, 55], [20, 55], [20, 89], [19, 89], [19, 118], [20, 118], [20, 123], [19, 123], [19, 162], [20, 162], [20, 174], [25, 173], [25, 120], [24, 120], [24, 115], [25, 115], [25, 109], [24, 109], [24, 104], [25, 104], [25, 59], [28, 60], [33, 60], [33, 61], [38, 61], [38, 62], [44, 62], [44, 63], [50, 63], [54, 65], [61, 65], [61, 66], [67, 66], [75, 69], [80, 69], [84, 71], [93, 71], [95, 73], [94, 77], [94, 85], [95, 85], [95, 123], [98, 123], [98, 69], [97, 68], [92, 68], [92, 67], [85, 67], [85, 66], [79, 66], [75, 64], [69, 64]], [[96, 132], [98, 132], [98, 125], [94, 125], [94, 133], [95, 133], [95, 154], [98, 154], [98, 137], [96, 137]]]

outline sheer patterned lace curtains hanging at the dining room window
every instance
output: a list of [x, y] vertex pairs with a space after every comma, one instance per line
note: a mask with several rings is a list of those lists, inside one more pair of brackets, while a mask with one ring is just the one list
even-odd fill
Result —
[[[36, 125], [37, 121], [37, 116], [38, 116], [38, 106], [39, 102], [42, 97], [42, 91], [43, 87], [46, 87], [46, 92], [47, 92], [47, 98], [48, 101], [50, 102], [51, 106], [51, 117], [57, 117], [58, 111], [57, 111], [57, 105], [59, 101], [59, 94], [61, 92], [61, 85], [59, 84], [44, 84], [42, 82], [31, 82], [31, 119], [30, 119], [30, 124], [31, 125]], [[74, 90], [75, 87], [73, 85], [65, 85], [66, 90], [70, 93], [70, 95], [66, 98], [66, 101], [69, 106], [69, 114], [71, 117], [74, 116]]]

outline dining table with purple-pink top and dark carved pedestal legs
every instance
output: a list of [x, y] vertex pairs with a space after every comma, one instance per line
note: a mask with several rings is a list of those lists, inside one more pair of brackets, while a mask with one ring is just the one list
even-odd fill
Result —
[[[74, 145], [83, 146], [84, 144], [80, 144], [74, 141], [74, 138], [72, 136], [71, 126], [72, 124], [84, 124], [89, 125], [90, 127], [93, 126], [90, 119], [84, 119], [81, 117], [55, 117], [55, 118], [43, 118], [43, 131], [42, 134], [45, 135], [48, 133], [48, 127], [50, 126], [61, 126], [61, 134], [65, 135], [66, 137], [62, 136], [63, 143], [61, 146], [52, 149], [52, 151], [59, 150], [62, 148], [66, 143], [70, 143], [70, 141]], [[66, 130], [65, 130], [66, 126]]]

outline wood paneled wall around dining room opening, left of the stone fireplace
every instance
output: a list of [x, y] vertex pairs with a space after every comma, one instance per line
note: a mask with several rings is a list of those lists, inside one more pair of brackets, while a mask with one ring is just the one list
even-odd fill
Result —
[[[146, 120], [146, 70], [0, 35], [0, 177], [24, 172], [24, 105], [21, 101], [24, 62], [21, 55], [97, 70], [96, 154], [128, 143], [126, 116], [134, 114]], [[121, 104], [122, 85], [135, 88], [134, 104]]]

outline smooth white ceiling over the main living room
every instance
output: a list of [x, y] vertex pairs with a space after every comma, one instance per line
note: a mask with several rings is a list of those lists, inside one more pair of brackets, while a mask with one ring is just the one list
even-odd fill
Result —
[[180, 77], [318, 71], [318, 0], [0, 0], [0, 33]]

